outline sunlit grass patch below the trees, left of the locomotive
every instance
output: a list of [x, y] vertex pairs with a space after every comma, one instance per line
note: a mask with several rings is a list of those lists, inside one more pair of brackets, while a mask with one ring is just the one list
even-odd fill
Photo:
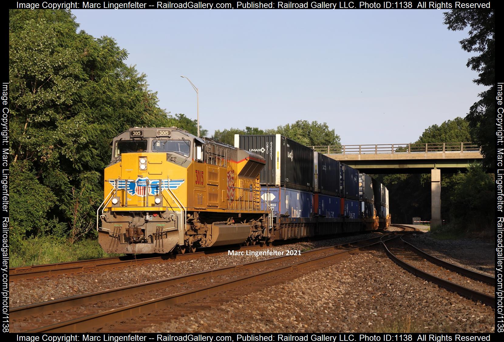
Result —
[[123, 254], [105, 253], [96, 240], [70, 244], [65, 239], [40, 237], [23, 240], [11, 248], [9, 267], [108, 258]]

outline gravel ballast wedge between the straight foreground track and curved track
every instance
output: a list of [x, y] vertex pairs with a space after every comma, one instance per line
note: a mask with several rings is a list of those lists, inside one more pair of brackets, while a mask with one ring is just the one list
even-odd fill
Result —
[[142, 332], [492, 332], [494, 310], [369, 251]]

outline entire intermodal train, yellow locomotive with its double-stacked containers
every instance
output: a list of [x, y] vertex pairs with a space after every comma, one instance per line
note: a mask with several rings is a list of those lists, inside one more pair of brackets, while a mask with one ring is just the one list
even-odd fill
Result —
[[390, 224], [383, 184], [279, 134], [236, 135], [233, 147], [135, 127], [111, 145], [96, 213], [107, 252], [186, 253]]

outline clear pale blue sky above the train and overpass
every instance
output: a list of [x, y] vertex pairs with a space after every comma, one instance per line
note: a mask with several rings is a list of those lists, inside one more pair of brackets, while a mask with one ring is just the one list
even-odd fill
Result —
[[483, 90], [443, 10], [73, 10], [167, 111], [217, 129], [327, 122], [343, 144], [415, 141]]

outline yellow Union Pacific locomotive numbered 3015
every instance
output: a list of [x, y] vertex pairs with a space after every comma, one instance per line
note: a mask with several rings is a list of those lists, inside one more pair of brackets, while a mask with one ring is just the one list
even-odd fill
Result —
[[267, 239], [264, 165], [256, 153], [176, 127], [124, 131], [105, 168], [99, 243], [114, 253], [185, 253]]

